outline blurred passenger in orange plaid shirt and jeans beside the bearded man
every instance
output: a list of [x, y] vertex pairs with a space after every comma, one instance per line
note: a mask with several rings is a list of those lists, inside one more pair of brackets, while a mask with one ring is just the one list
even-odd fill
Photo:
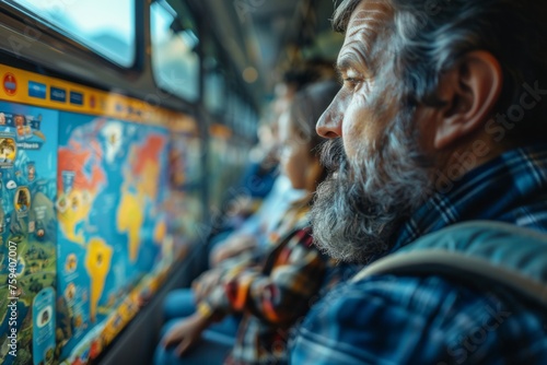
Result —
[[282, 170], [305, 197], [283, 214], [260, 255], [225, 260], [198, 278], [191, 290], [170, 294], [155, 364], [287, 362], [292, 326], [322, 287], [338, 280], [335, 262], [313, 245], [307, 215], [325, 177], [317, 155], [324, 140], [314, 132], [315, 120], [337, 90], [333, 81], [310, 85], [280, 120]]

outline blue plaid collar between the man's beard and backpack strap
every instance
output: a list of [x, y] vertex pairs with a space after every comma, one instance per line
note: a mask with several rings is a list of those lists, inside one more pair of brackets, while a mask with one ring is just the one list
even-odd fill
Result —
[[[547, 195], [547, 146], [503, 153], [458, 181], [445, 178], [440, 190], [403, 224], [391, 252], [458, 222], [496, 220], [519, 224], [511, 212], [522, 211], [526, 204], [537, 205], [538, 197]], [[544, 200], [540, 211], [528, 210], [527, 214], [547, 214], [547, 202]]]

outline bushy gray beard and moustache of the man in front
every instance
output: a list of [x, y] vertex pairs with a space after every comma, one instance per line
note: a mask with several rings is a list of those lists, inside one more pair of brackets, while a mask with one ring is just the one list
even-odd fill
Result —
[[[329, 176], [311, 210], [315, 245], [328, 256], [368, 263], [393, 247], [400, 222], [430, 196], [432, 164], [409, 120], [394, 120], [376, 145], [349, 162], [341, 139], [328, 141], [322, 162]], [[369, 150], [369, 151], [366, 151]]]

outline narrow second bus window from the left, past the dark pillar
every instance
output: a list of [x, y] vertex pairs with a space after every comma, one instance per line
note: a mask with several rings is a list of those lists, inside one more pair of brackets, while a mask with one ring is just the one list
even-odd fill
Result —
[[199, 43], [195, 23], [184, 4], [177, 13], [166, 1], [151, 5], [152, 70], [161, 89], [196, 102], [199, 97]]

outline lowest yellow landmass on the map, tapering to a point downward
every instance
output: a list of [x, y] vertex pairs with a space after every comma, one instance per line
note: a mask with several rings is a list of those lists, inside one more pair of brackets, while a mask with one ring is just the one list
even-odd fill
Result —
[[90, 319], [95, 321], [97, 304], [103, 294], [106, 275], [110, 271], [113, 249], [100, 238], [92, 238], [88, 244], [85, 269], [90, 275]]

